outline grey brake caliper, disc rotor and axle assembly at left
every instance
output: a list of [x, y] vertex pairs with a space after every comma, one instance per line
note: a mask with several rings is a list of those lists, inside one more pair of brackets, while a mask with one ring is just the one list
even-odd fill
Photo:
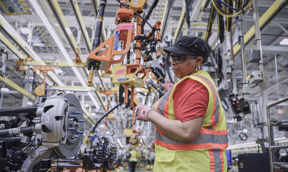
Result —
[[52, 159], [73, 157], [82, 144], [85, 120], [71, 93], [40, 97], [29, 107], [0, 109], [0, 115], [14, 117], [0, 121], [1, 171], [47, 171]]

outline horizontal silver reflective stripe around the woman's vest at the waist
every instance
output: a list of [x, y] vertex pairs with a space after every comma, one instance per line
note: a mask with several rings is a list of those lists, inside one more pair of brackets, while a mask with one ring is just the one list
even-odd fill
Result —
[[160, 135], [158, 131], [155, 133], [155, 139], [163, 141], [165, 144], [202, 144], [202, 143], [213, 143], [213, 144], [226, 144], [228, 142], [227, 134], [224, 135], [213, 135], [213, 134], [199, 134], [198, 138], [191, 143], [180, 142], [167, 135]]

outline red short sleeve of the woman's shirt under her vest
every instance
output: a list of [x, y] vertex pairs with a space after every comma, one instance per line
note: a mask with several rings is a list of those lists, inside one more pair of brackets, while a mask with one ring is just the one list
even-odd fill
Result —
[[176, 87], [173, 101], [176, 120], [185, 122], [205, 117], [209, 92], [202, 83], [188, 78]]

